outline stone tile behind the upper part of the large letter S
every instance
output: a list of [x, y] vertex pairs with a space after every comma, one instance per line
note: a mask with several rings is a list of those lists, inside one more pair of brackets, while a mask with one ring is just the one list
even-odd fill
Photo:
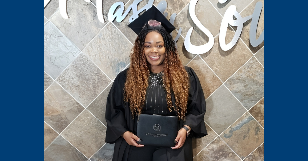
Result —
[[[215, 37], [219, 33], [219, 27], [222, 17], [211, 5], [208, 0], [199, 0], [196, 4], [195, 13], [199, 21], [205, 26]], [[189, 5], [184, 8], [178, 15], [176, 15], [174, 26], [177, 30], [182, 28], [182, 35], [186, 36], [187, 31], [193, 28], [191, 35], [191, 43], [193, 45], [203, 45], [209, 41], [208, 36], [203, 33], [193, 22], [189, 14]]]

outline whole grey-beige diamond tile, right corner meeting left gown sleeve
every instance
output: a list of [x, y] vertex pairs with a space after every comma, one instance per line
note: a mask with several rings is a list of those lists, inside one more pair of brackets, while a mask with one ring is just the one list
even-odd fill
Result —
[[83, 53], [79, 54], [56, 81], [84, 107], [111, 82]]

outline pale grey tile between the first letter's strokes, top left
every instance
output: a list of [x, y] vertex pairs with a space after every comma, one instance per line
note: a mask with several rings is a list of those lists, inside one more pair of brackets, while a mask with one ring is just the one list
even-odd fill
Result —
[[49, 20], [55, 24], [80, 50], [107, 24], [99, 21], [95, 6], [84, 0], [68, 1], [69, 18], [62, 18], [58, 10]]

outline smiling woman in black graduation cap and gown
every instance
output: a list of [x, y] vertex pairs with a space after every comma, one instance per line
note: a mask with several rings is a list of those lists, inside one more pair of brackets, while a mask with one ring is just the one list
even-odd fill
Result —
[[[151, 7], [128, 25], [138, 34], [130, 68], [117, 75], [107, 97], [106, 142], [113, 161], [192, 161], [192, 138], [207, 135], [205, 98], [192, 68], [183, 66], [169, 34], [174, 26]], [[138, 144], [137, 115], [178, 117], [174, 147]]]

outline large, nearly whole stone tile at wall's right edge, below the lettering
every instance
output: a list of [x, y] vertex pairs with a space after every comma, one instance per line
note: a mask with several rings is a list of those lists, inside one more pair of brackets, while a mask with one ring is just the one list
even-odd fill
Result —
[[264, 68], [253, 57], [225, 85], [249, 110], [264, 96]]

